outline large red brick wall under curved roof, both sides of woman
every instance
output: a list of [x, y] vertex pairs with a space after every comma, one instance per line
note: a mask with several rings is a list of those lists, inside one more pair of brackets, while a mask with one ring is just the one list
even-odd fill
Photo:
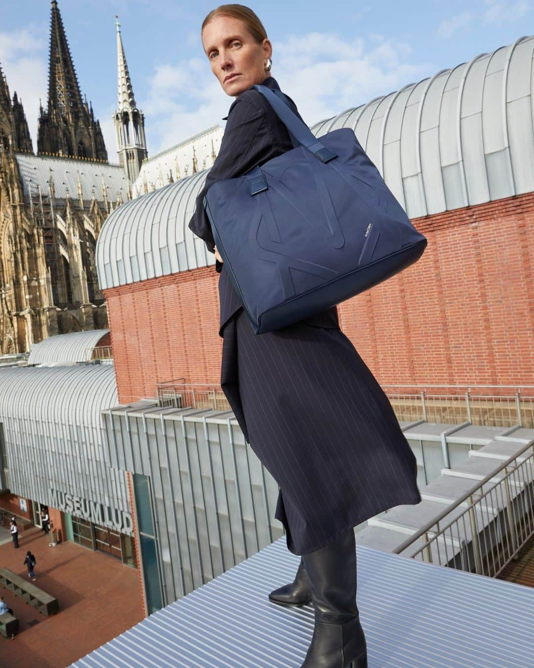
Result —
[[[429, 240], [412, 267], [338, 307], [382, 385], [531, 384], [534, 193], [413, 220]], [[214, 267], [105, 291], [121, 401], [185, 377], [217, 383]]]

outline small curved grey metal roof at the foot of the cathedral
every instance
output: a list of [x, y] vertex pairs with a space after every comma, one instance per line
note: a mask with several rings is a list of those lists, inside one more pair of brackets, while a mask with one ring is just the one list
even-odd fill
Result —
[[48, 337], [32, 345], [28, 364], [87, 362], [91, 359], [87, 349], [97, 346], [107, 333], [109, 329], [90, 329]]

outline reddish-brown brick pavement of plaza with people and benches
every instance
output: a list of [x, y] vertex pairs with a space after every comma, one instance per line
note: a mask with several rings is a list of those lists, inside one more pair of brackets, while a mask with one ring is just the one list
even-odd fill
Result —
[[[35, 585], [55, 596], [59, 613], [45, 617], [0, 587], [0, 595], [21, 622], [13, 640], [0, 636], [3, 668], [63, 668], [143, 619], [138, 573], [102, 552], [73, 542], [49, 547], [38, 527], [21, 535], [13, 549], [0, 535], [0, 566], [27, 578], [27, 550], [37, 559]], [[9, 542], [3, 542], [7, 538]]]

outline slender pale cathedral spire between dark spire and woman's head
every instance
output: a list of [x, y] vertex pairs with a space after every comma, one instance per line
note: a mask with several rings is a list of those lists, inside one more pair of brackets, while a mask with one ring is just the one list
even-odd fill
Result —
[[136, 107], [136, 100], [133, 97], [122, 44], [121, 24], [117, 15], [115, 15], [115, 28], [117, 29], [117, 110], [113, 115], [113, 122], [117, 132], [119, 162], [128, 180], [133, 183], [140, 172], [141, 163], [147, 156], [145, 117]]

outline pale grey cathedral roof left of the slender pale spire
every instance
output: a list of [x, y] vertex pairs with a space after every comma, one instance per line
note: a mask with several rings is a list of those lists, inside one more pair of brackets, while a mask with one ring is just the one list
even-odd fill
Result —
[[127, 200], [128, 180], [124, 168], [120, 165], [92, 160], [34, 156], [31, 153], [16, 153], [15, 158], [19, 164], [27, 201], [30, 190], [32, 194], [38, 194], [39, 187], [43, 196], [49, 194], [50, 175], [53, 179], [55, 198], [65, 199], [68, 188], [69, 197], [77, 199], [78, 174], [83, 200], [89, 202], [94, 194], [97, 202], [103, 202], [102, 182], [106, 187], [108, 202], [116, 202], [119, 192], [123, 202]]

